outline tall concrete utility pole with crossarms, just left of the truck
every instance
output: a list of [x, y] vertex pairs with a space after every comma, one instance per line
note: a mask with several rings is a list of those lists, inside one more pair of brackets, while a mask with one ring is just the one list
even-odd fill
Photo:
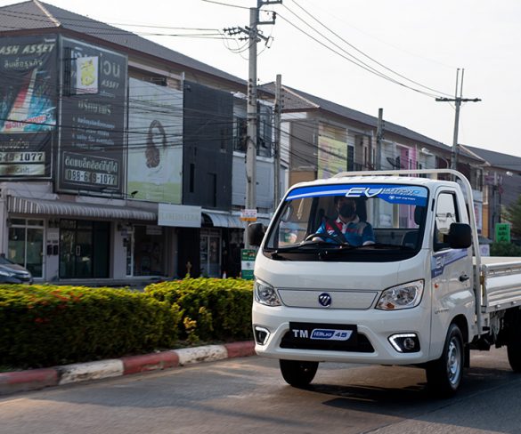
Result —
[[[248, 144], [246, 149], [246, 200], [247, 210], [256, 209], [256, 149], [257, 149], [257, 92], [256, 92], [256, 44], [262, 39], [268, 42], [257, 29], [262, 24], [275, 24], [276, 14], [273, 12], [272, 20], [260, 21], [260, 9], [268, 4], [281, 4], [282, 0], [257, 0], [256, 7], [249, 8], [249, 26], [246, 28], [224, 28], [229, 35], [244, 33], [244, 39], [248, 41], [248, 111], [247, 111], [247, 134]], [[249, 248], [248, 234], [244, 233], [244, 245]]]

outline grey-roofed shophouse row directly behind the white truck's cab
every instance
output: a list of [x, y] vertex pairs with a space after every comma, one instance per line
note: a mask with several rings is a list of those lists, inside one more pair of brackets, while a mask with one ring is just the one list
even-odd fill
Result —
[[[328, 178], [344, 171], [444, 169], [452, 148], [383, 119], [283, 87], [281, 157], [289, 167], [289, 184]], [[274, 84], [265, 84], [273, 94]], [[384, 113], [385, 115], [385, 113]], [[478, 230], [483, 222], [484, 160], [459, 149], [458, 170], [473, 188]], [[412, 215], [402, 216], [413, 219]]]

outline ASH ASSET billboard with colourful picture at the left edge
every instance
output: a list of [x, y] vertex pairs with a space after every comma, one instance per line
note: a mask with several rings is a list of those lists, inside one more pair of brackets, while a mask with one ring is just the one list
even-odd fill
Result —
[[0, 42], [0, 178], [50, 178], [56, 128], [57, 38]]

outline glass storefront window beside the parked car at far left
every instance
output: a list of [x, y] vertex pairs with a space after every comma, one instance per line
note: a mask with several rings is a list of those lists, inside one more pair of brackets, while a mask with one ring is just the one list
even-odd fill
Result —
[[12, 219], [7, 250], [11, 261], [28, 269], [33, 277], [44, 277], [44, 221]]

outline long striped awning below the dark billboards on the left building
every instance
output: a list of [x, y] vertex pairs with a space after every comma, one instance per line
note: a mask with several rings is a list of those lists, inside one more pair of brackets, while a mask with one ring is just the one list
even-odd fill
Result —
[[98, 219], [157, 221], [158, 214], [131, 206], [78, 204], [26, 197], [7, 197], [10, 213], [94, 217]]

